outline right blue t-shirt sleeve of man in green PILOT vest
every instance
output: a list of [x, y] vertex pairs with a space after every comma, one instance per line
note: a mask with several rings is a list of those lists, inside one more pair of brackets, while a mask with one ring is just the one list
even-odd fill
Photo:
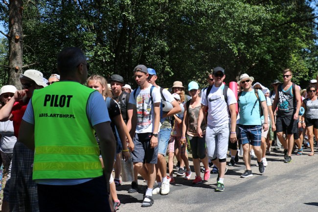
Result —
[[93, 92], [89, 97], [86, 112], [92, 126], [111, 121], [109, 118], [106, 102], [101, 94]]

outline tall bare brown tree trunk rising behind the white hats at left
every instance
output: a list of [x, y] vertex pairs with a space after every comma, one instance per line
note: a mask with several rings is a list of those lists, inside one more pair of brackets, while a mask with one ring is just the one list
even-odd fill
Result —
[[21, 89], [19, 80], [23, 66], [23, 0], [10, 0], [9, 3], [9, 84]]

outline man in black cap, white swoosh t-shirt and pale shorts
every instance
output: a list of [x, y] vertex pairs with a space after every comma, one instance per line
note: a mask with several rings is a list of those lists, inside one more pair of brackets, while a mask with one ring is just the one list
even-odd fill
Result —
[[[205, 143], [207, 155], [219, 169], [219, 177], [215, 191], [224, 191], [224, 175], [227, 165], [228, 138], [236, 141], [236, 97], [232, 90], [223, 84], [225, 79], [224, 69], [217, 67], [213, 70], [214, 85], [204, 90], [201, 108], [198, 117], [198, 135], [202, 136], [201, 123], [207, 117]], [[226, 90], [224, 90], [226, 89]], [[207, 94], [208, 92], [208, 94]], [[226, 96], [224, 95], [226, 93]], [[207, 111], [207, 116], [206, 116]], [[230, 123], [229, 123], [230, 119]], [[230, 124], [230, 130], [229, 130]], [[218, 160], [217, 160], [218, 159]]]

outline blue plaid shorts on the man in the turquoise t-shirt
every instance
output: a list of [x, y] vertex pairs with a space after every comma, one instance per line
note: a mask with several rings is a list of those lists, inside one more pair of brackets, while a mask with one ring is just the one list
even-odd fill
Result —
[[252, 146], [261, 145], [262, 125], [241, 125], [238, 124], [238, 139], [241, 144], [250, 143]]

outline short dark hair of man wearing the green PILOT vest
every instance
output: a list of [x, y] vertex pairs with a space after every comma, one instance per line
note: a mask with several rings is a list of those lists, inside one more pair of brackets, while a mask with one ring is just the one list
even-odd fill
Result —
[[60, 74], [72, 72], [81, 63], [86, 63], [86, 57], [78, 47], [66, 47], [57, 56], [57, 68]]

